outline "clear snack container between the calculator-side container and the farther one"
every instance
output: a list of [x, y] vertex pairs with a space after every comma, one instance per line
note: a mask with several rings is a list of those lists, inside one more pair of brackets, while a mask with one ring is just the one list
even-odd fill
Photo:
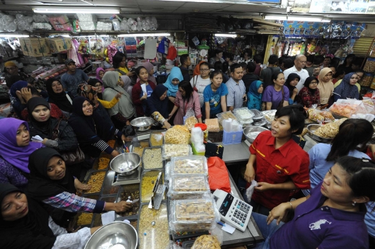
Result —
[[169, 179], [169, 198], [199, 198], [204, 194], [210, 194], [206, 175], [174, 175]]

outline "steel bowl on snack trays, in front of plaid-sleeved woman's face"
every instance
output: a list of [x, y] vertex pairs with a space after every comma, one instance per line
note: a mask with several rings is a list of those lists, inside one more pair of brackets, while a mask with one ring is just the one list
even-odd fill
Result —
[[140, 166], [140, 156], [136, 153], [123, 153], [110, 161], [110, 169], [120, 175], [131, 175]]

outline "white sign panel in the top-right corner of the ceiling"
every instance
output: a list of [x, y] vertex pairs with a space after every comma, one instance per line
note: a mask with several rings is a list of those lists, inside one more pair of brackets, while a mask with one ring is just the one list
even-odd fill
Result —
[[375, 1], [370, 0], [315, 0], [311, 13], [370, 14], [375, 13]]

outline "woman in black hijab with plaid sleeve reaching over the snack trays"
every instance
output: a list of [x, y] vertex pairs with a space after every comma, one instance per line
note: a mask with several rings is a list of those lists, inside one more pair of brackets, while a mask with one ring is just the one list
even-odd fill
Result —
[[[26, 193], [29, 197], [44, 203], [51, 216], [65, 224], [76, 212], [101, 213], [104, 211], [124, 212], [130, 203], [106, 203], [76, 195], [76, 191], [91, 189], [74, 178], [65, 167], [61, 155], [53, 148], [40, 148], [28, 160], [30, 179]], [[57, 209], [57, 210], [56, 210]]]

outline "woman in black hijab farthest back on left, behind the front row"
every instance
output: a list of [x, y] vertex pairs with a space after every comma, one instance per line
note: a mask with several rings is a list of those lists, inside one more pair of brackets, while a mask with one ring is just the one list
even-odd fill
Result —
[[56, 78], [50, 78], [47, 80], [46, 89], [49, 96], [48, 102], [57, 105], [63, 112], [64, 116], [69, 118], [73, 110], [72, 99], [74, 97], [72, 94], [65, 92], [60, 80]]

